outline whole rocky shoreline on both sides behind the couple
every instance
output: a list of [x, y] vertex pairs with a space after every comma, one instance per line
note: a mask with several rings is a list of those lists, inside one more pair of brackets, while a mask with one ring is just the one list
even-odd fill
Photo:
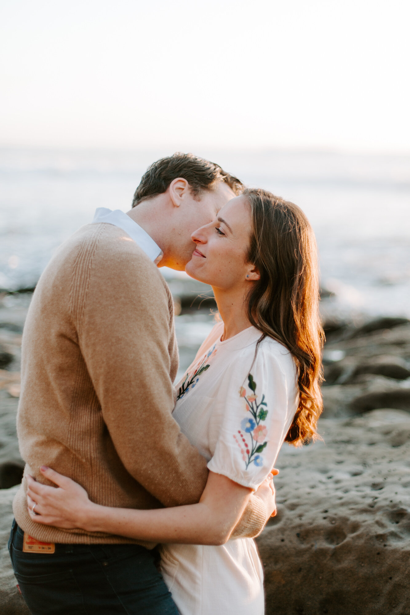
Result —
[[[7, 552], [27, 305], [0, 308], [0, 615], [28, 613]], [[267, 615], [409, 615], [410, 322], [325, 328], [323, 441], [283, 446], [278, 515], [257, 539]]]

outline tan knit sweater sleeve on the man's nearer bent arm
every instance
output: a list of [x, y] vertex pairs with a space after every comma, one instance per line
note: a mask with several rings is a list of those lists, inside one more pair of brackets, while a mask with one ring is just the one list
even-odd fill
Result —
[[[172, 418], [169, 295], [139, 247], [95, 246], [73, 285], [78, 343], [116, 453], [164, 506], [199, 501], [206, 459]], [[131, 245], [130, 245], [131, 244]], [[171, 339], [172, 338], [172, 339]]]

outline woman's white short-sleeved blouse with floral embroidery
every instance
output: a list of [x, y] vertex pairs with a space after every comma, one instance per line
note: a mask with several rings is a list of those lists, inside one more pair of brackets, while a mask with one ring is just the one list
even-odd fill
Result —
[[[173, 416], [217, 474], [256, 490], [267, 477], [299, 403], [287, 349], [249, 327], [220, 341], [217, 323], [176, 386]], [[263, 571], [252, 539], [162, 548], [164, 579], [182, 615], [260, 615]]]

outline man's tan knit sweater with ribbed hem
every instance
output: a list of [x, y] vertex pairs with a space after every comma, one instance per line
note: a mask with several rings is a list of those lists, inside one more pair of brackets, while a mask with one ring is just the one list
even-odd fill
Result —
[[[112, 224], [79, 229], [42, 274], [26, 319], [17, 415], [25, 474], [44, 482], [39, 466], [50, 466], [105, 506], [198, 502], [206, 460], [171, 415], [177, 368], [172, 297], [155, 264]], [[138, 542], [34, 523], [25, 478], [14, 514], [41, 541]], [[255, 536], [265, 515], [251, 498], [236, 536]]]

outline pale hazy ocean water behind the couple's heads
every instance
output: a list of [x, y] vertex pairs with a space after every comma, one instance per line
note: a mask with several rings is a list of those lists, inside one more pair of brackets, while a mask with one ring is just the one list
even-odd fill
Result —
[[[33, 287], [55, 248], [96, 207], [129, 210], [148, 164], [170, 153], [0, 150], [0, 288]], [[332, 293], [325, 314], [410, 317], [410, 156], [198, 154], [307, 213], [321, 284]]]

